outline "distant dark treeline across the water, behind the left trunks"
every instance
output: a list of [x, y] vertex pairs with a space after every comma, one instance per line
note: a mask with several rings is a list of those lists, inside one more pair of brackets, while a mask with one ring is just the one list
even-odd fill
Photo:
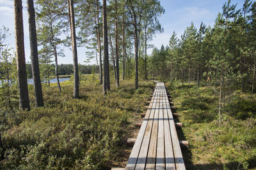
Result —
[[[54, 75], [55, 65], [50, 64], [50, 75]], [[31, 64], [26, 64], [27, 76], [28, 78], [32, 78], [32, 69]], [[99, 67], [96, 65], [82, 65], [79, 64], [79, 73], [82, 74], [92, 74], [98, 73]], [[60, 64], [58, 65], [58, 74], [59, 75], [70, 75], [73, 74], [73, 64]]]

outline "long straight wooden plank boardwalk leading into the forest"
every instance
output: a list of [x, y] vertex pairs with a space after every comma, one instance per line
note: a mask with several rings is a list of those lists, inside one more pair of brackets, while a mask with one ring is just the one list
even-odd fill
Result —
[[123, 169], [186, 169], [162, 82], [157, 81], [127, 166]]

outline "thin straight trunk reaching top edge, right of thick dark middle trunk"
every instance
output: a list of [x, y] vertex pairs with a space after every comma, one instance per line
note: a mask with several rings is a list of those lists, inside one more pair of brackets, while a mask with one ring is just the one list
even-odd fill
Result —
[[118, 29], [117, 29], [117, 2], [115, 0], [115, 45], [116, 45], [116, 87], [119, 87], [119, 56], [118, 56]]

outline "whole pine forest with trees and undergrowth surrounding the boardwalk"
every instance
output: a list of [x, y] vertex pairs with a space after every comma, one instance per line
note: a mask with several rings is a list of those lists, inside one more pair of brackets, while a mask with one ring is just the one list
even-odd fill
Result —
[[[0, 28], [0, 169], [124, 167], [152, 80], [172, 94], [179, 139], [189, 141], [187, 169], [256, 167], [256, 1], [239, 9], [228, 0], [214, 25], [191, 22], [161, 48], [150, 43], [164, 32], [159, 0], [26, 3], [22, 20], [22, 0], [13, 0], [15, 49]], [[58, 64], [63, 46], [73, 64]], [[77, 62], [77, 46], [86, 48], [86, 64]]]

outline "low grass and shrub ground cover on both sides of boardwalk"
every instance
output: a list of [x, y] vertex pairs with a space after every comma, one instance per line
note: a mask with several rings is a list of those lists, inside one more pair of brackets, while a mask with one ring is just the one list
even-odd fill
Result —
[[[0, 110], [4, 150], [3, 169], [110, 169], [124, 167], [131, 152], [126, 139], [136, 136], [134, 122], [154, 86], [140, 81], [111, 80], [108, 96], [102, 95], [97, 75], [81, 76], [80, 99], [72, 98], [72, 78], [43, 87], [45, 107], [35, 108], [29, 85], [31, 111]], [[183, 123], [180, 140], [187, 169], [253, 169], [256, 167], [256, 96], [234, 92], [226, 101], [223, 122], [218, 124], [218, 96], [212, 87], [167, 83]]]

